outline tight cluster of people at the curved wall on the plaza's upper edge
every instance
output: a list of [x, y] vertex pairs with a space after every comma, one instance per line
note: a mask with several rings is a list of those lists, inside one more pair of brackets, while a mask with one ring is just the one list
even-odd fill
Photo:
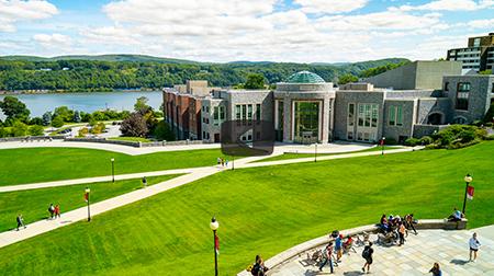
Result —
[[414, 223], [416, 223], [414, 214], [407, 214], [403, 218], [393, 215], [386, 217], [386, 215], [383, 214], [379, 222], [379, 227], [383, 234], [382, 239], [384, 241], [391, 241], [392, 243], [398, 243], [401, 246], [405, 243], [408, 231], [413, 230], [414, 233], [417, 234]]

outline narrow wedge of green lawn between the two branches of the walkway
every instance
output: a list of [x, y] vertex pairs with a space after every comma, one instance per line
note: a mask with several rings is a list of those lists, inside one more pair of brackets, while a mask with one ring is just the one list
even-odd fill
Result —
[[[147, 177], [148, 185], [157, 184], [178, 175]], [[141, 179], [80, 184], [63, 187], [37, 188], [20, 192], [0, 193], [0, 232], [13, 229], [15, 216], [22, 214], [26, 223], [45, 219], [48, 206], [59, 204], [60, 210], [69, 211], [86, 205], [83, 191], [91, 188], [91, 202], [101, 202], [143, 187]]]

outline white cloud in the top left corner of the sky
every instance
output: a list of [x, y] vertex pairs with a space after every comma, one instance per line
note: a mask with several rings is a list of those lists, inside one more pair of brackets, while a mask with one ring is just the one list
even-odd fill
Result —
[[19, 21], [43, 20], [57, 13], [57, 8], [47, 1], [0, 0], [0, 32], [15, 32]]

